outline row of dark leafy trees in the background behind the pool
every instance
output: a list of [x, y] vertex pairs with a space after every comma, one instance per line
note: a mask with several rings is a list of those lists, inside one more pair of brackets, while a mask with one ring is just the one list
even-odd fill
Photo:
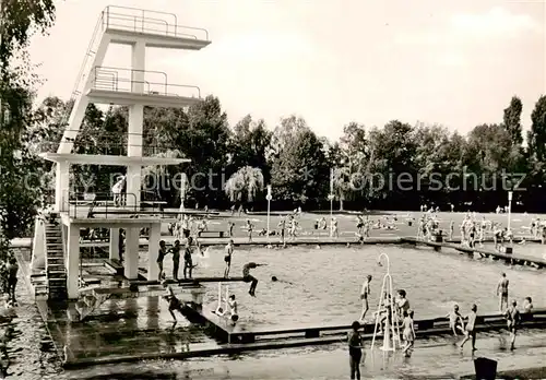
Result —
[[[56, 150], [71, 106], [58, 97], [43, 102], [34, 149]], [[459, 211], [492, 211], [513, 191], [513, 210], [544, 211], [546, 96], [534, 105], [525, 145], [522, 109], [514, 96], [498, 123], [476, 126], [466, 135], [422, 122], [392, 120], [369, 129], [349, 122], [332, 142], [294, 115], [274, 128], [250, 115], [229, 126], [214, 96], [188, 109], [146, 107], [144, 154], [191, 162], [144, 168], [143, 185], [171, 206], [179, 205], [183, 188], [188, 206], [262, 210], [271, 185], [273, 210], [328, 209], [333, 194], [335, 209], [450, 210], [453, 204]], [[74, 152], [126, 155], [127, 131], [127, 107], [103, 111], [90, 105]], [[55, 168], [45, 170], [54, 177]], [[93, 191], [108, 192], [116, 173], [120, 168], [74, 166], [72, 175], [75, 182], [93, 178]]]

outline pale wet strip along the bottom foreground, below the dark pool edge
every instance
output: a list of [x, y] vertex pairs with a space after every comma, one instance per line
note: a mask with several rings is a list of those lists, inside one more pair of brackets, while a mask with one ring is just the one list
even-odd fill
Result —
[[[546, 366], [546, 332], [522, 332], [517, 349], [507, 351], [503, 334], [478, 334], [472, 355], [463, 352], [451, 337], [417, 341], [410, 358], [400, 352], [383, 354], [367, 349], [360, 367], [363, 379], [452, 378], [474, 372], [473, 358], [498, 360], [498, 370]], [[369, 347], [369, 346], [368, 346]], [[100, 366], [66, 372], [63, 379], [348, 379], [348, 354], [344, 344], [259, 352], [239, 356], [219, 356], [185, 361], [155, 360], [131, 365]], [[150, 377], [146, 377], [150, 376]], [[155, 376], [155, 377], [154, 377]]]

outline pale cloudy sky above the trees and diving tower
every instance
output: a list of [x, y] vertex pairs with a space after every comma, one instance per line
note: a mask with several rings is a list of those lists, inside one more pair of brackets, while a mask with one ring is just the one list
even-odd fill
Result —
[[[517, 95], [529, 129], [546, 93], [546, 1], [64, 0], [49, 35], [31, 46], [39, 97], [70, 97], [108, 4], [206, 28], [209, 47], [147, 49], [146, 70], [218, 96], [232, 124], [250, 114], [274, 128], [295, 114], [329, 139], [351, 121], [393, 119], [467, 133], [501, 122]], [[109, 48], [104, 66], [129, 67], [130, 49]]]

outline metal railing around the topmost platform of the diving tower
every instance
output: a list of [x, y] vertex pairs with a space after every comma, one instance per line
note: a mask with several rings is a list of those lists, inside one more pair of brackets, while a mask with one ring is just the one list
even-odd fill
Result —
[[209, 40], [209, 31], [178, 24], [175, 13], [108, 5], [102, 13], [103, 28], [157, 34], [162, 36]]

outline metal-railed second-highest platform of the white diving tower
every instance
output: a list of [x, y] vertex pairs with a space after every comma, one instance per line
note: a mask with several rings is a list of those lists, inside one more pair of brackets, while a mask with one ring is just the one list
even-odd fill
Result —
[[[159, 81], [134, 80], [135, 73], [141, 75], [156, 74], [163, 76], [163, 79]], [[139, 85], [142, 85], [141, 90], [135, 88]], [[167, 74], [163, 71], [95, 67], [93, 70], [92, 88], [97, 91], [201, 98], [200, 87], [186, 84], [170, 84], [168, 83]]]

